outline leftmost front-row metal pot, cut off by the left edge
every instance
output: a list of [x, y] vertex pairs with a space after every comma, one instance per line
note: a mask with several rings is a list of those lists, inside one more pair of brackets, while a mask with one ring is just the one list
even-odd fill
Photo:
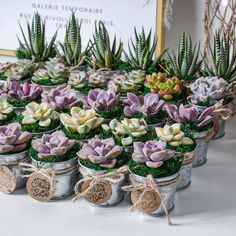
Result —
[[[0, 155], [0, 163], [6, 164], [11, 172], [14, 174], [16, 178], [16, 187], [15, 190], [19, 190], [25, 187], [26, 179], [20, 178], [24, 174], [21, 168], [19, 168], [18, 164], [11, 165], [11, 162], [21, 162], [24, 159], [29, 157], [29, 150], [25, 150], [23, 152], [14, 153], [14, 154], [2, 154]], [[9, 164], [9, 165], [8, 165]]]

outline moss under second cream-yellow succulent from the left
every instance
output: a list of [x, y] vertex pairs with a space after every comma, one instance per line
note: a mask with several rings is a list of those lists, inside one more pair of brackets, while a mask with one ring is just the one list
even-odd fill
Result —
[[56, 129], [60, 125], [60, 120], [54, 120], [48, 127], [41, 127], [39, 126], [39, 122], [32, 124], [32, 125], [23, 125], [22, 120], [23, 120], [23, 115], [18, 115], [17, 116], [17, 122], [19, 122], [22, 126], [23, 131], [28, 131], [30, 133], [43, 133], [47, 132], [50, 130]]

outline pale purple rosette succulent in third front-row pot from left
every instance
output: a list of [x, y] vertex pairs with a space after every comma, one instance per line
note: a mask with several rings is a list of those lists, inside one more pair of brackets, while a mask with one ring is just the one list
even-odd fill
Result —
[[101, 167], [113, 168], [116, 158], [122, 151], [123, 148], [116, 146], [113, 138], [99, 139], [95, 136], [83, 145], [77, 155], [79, 158], [99, 164]]

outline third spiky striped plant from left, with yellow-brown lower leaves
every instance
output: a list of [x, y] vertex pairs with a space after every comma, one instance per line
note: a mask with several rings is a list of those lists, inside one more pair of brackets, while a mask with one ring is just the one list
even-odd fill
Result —
[[117, 69], [123, 50], [123, 42], [119, 43], [117, 49], [116, 36], [112, 46], [110, 36], [102, 21], [95, 23], [95, 33], [91, 47], [92, 58], [90, 64], [96, 68]]

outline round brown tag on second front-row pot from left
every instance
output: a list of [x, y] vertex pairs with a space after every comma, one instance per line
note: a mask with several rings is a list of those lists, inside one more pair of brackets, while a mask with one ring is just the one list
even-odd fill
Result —
[[55, 183], [41, 173], [34, 173], [29, 177], [26, 189], [35, 200], [47, 202], [54, 196]]

